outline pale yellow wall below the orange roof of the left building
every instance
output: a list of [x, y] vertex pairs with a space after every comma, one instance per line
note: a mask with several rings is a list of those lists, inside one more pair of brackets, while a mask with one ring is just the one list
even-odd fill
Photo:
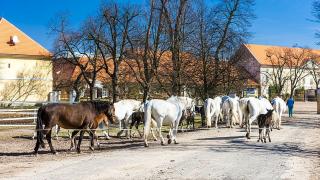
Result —
[[[49, 92], [52, 91], [52, 63], [50, 60], [24, 59], [24, 58], [0, 58], [0, 99], [3, 100], [3, 92], [15, 91], [18, 82], [23, 82], [19, 78], [19, 73], [23, 73], [27, 82], [31, 77], [42, 84], [42, 88], [35, 94], [30, 95], [27, 101], [46, 101]], [[14, 85], [14, 86], [13, 86]], [[9, 87], [10, 86], [10, 87]]]

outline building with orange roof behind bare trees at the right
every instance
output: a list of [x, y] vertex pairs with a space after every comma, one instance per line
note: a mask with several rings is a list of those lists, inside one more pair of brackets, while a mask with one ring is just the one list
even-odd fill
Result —
[[[282, 46], [269, 46], [269, 45], [258, 45], [258, 44], [243, 44], [238, 53], [243, 53], [241, 60], [239, 61], [240, 66], [244, 67], [254, 80], [258, 82], [259, 87], [256, 87], [255, 91], [258, 95], [263, 95], [269, 97], [270, 91], [269, 87], [272, 86], [270, 81], [270, 74], [273, 72], [273, 68], [280, 65], [280, 61], [275, 60], [276, 53], [282, 56], [286, 51], [290, 51], [296, 54], [302, 53], [302, 51], [308, 51], [303, 61], [297, 62], [297, 64], [302, 63], [302, 65], [308, 67], [310, 61], [315, 61], [319, 64], [320, 50], [306, 49], [306, 48], [290, 48]], [[306, 53], [307, 54], [307, 53]], [[279, 58], [281, 59], [281, 58]], [[294, 63], [294, 60], [292, 61]], [[289, 74], [289, 68], [284, 66], [284, 74]], [[319, 69], [320, 70], [320, 69]], [[306, 70], [303, 74], [304, 78], [298, 84], [297, 89], [304, 89], [306, 93], [314, 94], [316, 89], [316, 83], [313, 77]], [[252, 91], [252, 88], [251, 88]], [[290, 91], [290, 84], [286, 83], [282, 94], [287, 94]], [[306, 94], [306, 96], [307, 96]]]

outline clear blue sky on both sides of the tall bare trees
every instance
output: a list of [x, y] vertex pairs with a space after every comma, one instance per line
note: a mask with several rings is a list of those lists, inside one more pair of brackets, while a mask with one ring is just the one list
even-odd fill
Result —
[[[316, 45], [314, 34], [320, 24], [312, 19], [313, 0], [256, 0], [257, 18], [250, 31], [249, 43], [308, 46]], [[98, 9], [100, 0], [1, 0], [0, 17], [16, 25], [30, 37], [51, 50], [53, 37], [49, 35], [50, 20], [59, 12], [68, 12], [71, 23], [77, 26]], [[1, 32], [0, 32], [1, 33]], [[320, 41], [320, 40], [319, 40]]]

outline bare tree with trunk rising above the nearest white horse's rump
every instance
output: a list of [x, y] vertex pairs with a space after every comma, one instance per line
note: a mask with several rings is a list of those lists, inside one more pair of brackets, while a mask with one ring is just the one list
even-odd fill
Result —
[[[143, 101], [150, 96], [152, 82], [155, 81], [158, 66], [164, 53], [161, 37], [163, 35], [164, 4], [150, 0], [149, 10], [140, 16], [136, 24], [138, 30], [131, 37], [132, 52], [127, 54], [126, 63], [134, 73], [137, 82], [143, 89]], [[140, 29], [140, 31], [139, 31]], [[135, 63], [132, 63], [132, 59]]]

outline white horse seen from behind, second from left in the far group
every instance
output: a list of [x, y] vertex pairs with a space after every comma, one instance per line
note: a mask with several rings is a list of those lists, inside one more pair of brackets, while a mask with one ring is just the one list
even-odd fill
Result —
[[242, 125], [242, 111], [239, 102], [235, 98], [228, 98], [222, 104], [223, 119], [227, 126], [232, 128], [236, 123]]

